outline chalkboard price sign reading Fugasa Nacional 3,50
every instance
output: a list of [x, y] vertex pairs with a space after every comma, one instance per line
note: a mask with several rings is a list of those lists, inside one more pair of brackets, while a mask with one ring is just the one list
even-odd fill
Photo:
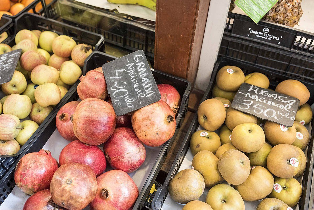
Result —
[[243, 83], [231, 107], [260, 119], [288, 127], [293, 125], [300, 100], [285, 94]]

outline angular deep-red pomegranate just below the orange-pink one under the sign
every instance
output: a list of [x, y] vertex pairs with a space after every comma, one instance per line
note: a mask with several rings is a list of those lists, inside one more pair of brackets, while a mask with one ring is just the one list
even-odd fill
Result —
[[[116, 128], [104, 143], [108, 163], [114, 169], [127, 173], [137, 170], [145, 161], [146, 151], [143, 143], [131, 128]], [[60, 163], [61, 164], [61, 163]]]

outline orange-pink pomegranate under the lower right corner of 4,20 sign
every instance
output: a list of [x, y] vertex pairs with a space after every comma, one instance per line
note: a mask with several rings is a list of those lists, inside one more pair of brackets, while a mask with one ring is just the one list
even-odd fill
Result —
[[169, 105], [159, 100], [134, 111], [132, 126], [138, 139], [147, 146], [160, 146], [175, 133], [176, 118]]

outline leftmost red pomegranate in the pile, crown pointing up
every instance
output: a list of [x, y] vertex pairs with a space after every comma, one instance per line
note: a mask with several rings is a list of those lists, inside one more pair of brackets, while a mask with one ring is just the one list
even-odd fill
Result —
[[58, 162], [52, 158], [50, 151], [41, 149], [39, 152], [28, 153], [19, 160], [15, 168], [15, 184], [28, 195], [49, 189], [58, 167]]

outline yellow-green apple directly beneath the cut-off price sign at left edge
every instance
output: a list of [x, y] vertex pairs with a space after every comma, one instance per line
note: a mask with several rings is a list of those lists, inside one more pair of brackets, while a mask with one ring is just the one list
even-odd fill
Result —
[[1, 85], [4, 94], [20, 94], [26, 89], [27, 82], [24, 75], [19, 71], [14, 71], [12, 79]]

